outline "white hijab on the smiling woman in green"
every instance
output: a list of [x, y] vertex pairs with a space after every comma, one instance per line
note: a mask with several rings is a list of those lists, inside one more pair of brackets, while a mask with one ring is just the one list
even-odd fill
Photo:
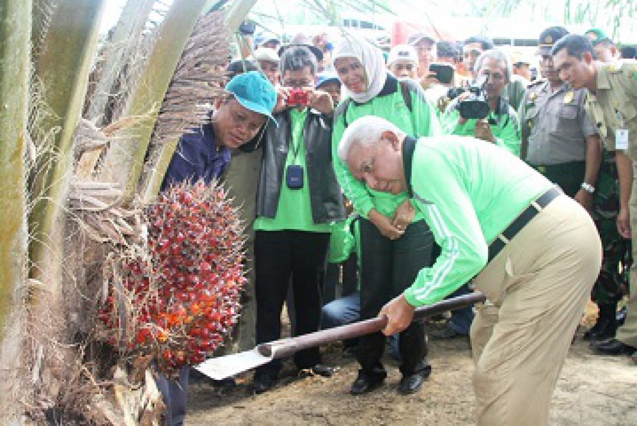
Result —
[[[366, 39], [347, 34], [334, 47], [333, 63], [340, 58], [356, 58], [361, 61], [367, 77], [367, 90], [362, 93], [352, 93], [343, 84], [345, 95], [352, 97], [359, 104], [366, 103], [380, 93], [387, 80], [385, 59], [380, 49], [371, 45]], [[343, 83], [343, 82], [341, 82]]]

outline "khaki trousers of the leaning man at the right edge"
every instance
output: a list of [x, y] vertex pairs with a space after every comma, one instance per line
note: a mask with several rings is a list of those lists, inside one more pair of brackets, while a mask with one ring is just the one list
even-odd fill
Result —
[[633, 232], [633, 266], [631, 267], [630, 298], [626, 305], [626, 321], [617, 329], [617, 340], [637, 347], [637, 164], [633, 162], [633, 189], [629, 204]]

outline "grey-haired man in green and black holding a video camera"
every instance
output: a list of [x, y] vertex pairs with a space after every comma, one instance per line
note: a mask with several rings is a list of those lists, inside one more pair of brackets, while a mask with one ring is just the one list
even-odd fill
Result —
[[475, 69], [473, 84], [447, 106], [443, 132], [475, 136], [519, 157], [519, 118], [503, 96], [511, 79], [511, 61], [501, 50], [487, 50], [476, 60]]

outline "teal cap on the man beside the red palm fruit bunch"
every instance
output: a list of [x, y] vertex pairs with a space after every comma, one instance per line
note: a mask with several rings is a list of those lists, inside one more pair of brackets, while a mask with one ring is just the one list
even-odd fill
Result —
[[266, 76], [258, 71], [235, 76], [225, 85], [225, 90], [234, 95], [241, 105], [250, 111], [265, 115], [276, 125], [272, 110], [276, 105], [276, 90]]

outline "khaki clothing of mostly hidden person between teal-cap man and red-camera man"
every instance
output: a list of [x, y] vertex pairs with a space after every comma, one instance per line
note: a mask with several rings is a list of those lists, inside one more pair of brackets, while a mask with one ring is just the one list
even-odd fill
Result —
[[[256, 344], [256, 296], [254, 292], [254, 219], [257, 215], [257, 186], [261, 173], [262, 150], [255, 152], [233, 151], [230, 166], [224, 180], [228, 194], [233, 198], [234, 207], [240, 209], [240, 217], [245, 224], [246, 278], [243, 291], [243, 308], [234, 332], [232, 351], [245, 351]], [[225, 352], [227, 353], [227, 351]]]

